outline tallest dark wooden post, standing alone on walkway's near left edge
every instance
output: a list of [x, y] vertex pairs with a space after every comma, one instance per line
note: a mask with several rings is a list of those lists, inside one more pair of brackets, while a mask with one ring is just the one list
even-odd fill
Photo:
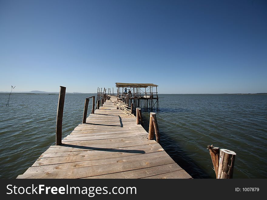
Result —
[[66, 94], [66, 87], [60, 86], [59, 102], [58, 102], [57, 114], [56, 114], [56, 145], [62, 144], [62, 119], [63, 119], [65, 94]]

